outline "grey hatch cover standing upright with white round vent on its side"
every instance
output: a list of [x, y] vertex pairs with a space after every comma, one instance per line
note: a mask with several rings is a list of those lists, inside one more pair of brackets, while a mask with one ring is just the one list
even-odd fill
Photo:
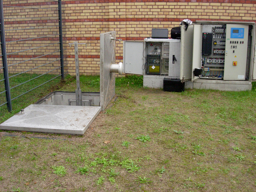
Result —
[[110, 65], [116, 61], [116, 32], [100, 34], [100, 106], [105, 110], [115, 96], [115, 73], [110, 73]]

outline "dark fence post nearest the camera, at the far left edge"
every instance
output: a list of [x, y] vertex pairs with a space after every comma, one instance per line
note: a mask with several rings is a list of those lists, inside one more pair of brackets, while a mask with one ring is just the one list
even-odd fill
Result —
[[12, 100], [10, 91], [10, 82], [8, 74], [8, 64], [7, 64], [7, 52], [6, 52], [6, 42], [5, 42], [5, 31], [4, 31], [4, 9], [3, 1], [0, 3], [0, 33], [1, 33], [1, 49], [2, 49], [2, 61], [3, 61], [3, 73], [4, 73], [4, 85], [6, 90], [6, 101], [7, 108], [9, 111], [12, 110]]

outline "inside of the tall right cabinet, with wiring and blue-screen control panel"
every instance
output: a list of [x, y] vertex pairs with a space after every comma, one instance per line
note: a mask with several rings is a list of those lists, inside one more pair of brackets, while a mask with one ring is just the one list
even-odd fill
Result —
[[248, 25], [202, 27], [201, 78], [245, 80]]

